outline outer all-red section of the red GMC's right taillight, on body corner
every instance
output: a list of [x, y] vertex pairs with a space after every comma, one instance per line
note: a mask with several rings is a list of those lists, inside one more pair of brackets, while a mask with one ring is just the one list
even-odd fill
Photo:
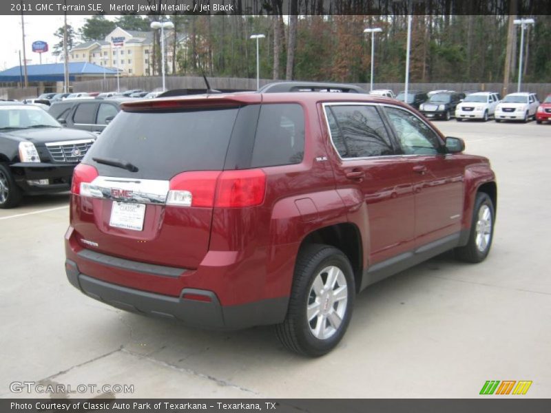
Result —
[[256, 207], [264, 202], [266, 175], [261, 169], [224, 171], [218, 179], [215, 207]]

